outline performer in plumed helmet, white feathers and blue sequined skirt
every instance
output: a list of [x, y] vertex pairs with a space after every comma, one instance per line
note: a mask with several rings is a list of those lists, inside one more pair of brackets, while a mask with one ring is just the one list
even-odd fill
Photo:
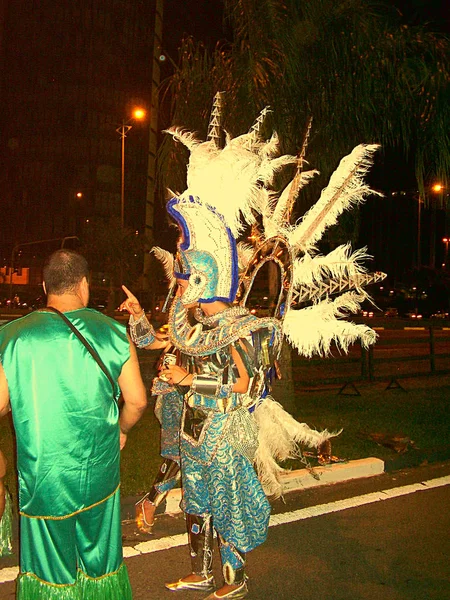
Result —
[[[362, 178], [377, 147], [358, 146], [343, 159], [316, 205], [292, 225], [297, 194], [316, 174], [303, 172], [309, 128], [299, 158], [278, 156], [276, 134], [268, 141], [261, 136], [264, 110], [248, 134], [227, 137], [222, 149], [220, 109], [218, 94], [206, 142], [170, 131], [189, 148], [190, 160], [187, 190], [167, 205], [181, 231], [177, 258], [164, 256], [166, 269], [174, 265], [173, 284], [183, 282], [169, 314], [170, 342], [182, 359], [167, 367], [167, 378], [185, 391], [182, 506], [192, 559], [192, 573], [167, 587], [212, 590], [215, 529], [225, 584], [208, 600], [247, 595], [245, 554], [266, 538], [264, 491], [282, 493], [278, 462], [298, 455], [299, 444], [320, 449], [336, 435], [297, 422], [271, 398], [283, 336], [304, 356], [324, 356], [332, 342], [344, 351], [357, 339], [374, 343], [373, 330], [344, 317], [368, 298], [364, 286], [384, 278], [366, 272], [365, 249], [352, 254], [346, 244], [321, 256], [315, 247], [346, 208], [371, 192]], [[275, 173], [292, 164], [294, 178], [275, 190]], [[249, 226], [253, 246], [237, 243]], [[273, 316], [259, 319], [245, 304], [268, 262], [279, 268], [280, 289]], [[196, 303], [192, 326], [187, 309]], [[145, 315], [132, 321], [131, 333], [138, 344], [151, 338]]]

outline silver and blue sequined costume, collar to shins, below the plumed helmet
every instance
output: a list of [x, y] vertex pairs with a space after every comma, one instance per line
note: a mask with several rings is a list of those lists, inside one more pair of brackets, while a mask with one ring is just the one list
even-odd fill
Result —
[[[193, 572], [211, 576], [214, 528], [224, 578], [239, 584], [244, 581], [245, 554], [267, 536], [270, 504], [253, 467], [258, 430], [252, 412], [270, 388], [280, 331], [276, 320], [257, 319], [240, 307], [209, 319], [197, 311], [196, 318], [203, 323], [194, 329], [199, 332], [200, 326], [202, 333], [193, 340], [187, 311], [179, 299], [174, 301], [169, 337], [181, 352], [181, 365], [195, 373], [193, 385], [185, 389], [181, 421], [182, 508]], [[143, 317], [139, 326], [145, 325]], [[136, 324], [133, 339], [135, 329]], [[231, 391], [237, 375], [232, 348], [251, 378], [247, 394]]]

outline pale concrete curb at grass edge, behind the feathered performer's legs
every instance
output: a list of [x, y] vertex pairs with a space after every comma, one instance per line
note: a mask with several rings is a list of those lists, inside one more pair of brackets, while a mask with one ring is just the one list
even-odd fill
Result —
[[[289, 493], [321, 485], [341, 483], [350, 479], [372, 477], [381, 475], [381, 473], [384, 473], [384, 461], [379, 458], [362, 458], [311, 469], [298, 469], [283, 475], [281, 479], [284, 493]], [[171, 490], [166, 498], [165, 513], [169, 515], [180, 513], [180, 501], [181, 489]]]

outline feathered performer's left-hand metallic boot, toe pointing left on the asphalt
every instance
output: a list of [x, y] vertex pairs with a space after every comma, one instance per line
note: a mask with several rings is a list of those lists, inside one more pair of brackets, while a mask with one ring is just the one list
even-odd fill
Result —
[[192, 573], [175, 583], [166, 583], [166, 588], [172, 592], [183, 590], [209, 592], [214, 589], [212, 518], [186, 514], [186, 524], [189, 535]]

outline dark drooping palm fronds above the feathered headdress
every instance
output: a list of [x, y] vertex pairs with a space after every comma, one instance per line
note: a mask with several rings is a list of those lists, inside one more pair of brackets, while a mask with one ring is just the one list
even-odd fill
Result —
[[[313, 118], [308, 161], [323, 187], [338, 160], [361, 142], [413, 156], [420, 190], [450, 167], [449, 41], [400, 22], [372, 0], [224, 0], [233, 40], [208, 52], [183, 41], [170, 81], [172, 123], [206, 136], [216, 91], [225, 94], [225, 128], [238, 135], [273, 107], [284, 152], [301, 146]], [[166, 138], [164, 185], [184, 189], [185, 157]], [[310, 205], [305, 196], [297, 206]]]

